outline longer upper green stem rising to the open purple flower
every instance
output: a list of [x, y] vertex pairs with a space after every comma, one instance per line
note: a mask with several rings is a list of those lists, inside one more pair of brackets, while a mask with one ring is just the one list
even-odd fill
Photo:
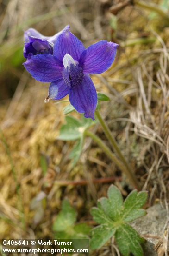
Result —
[[[140, 187], [138, 185], [138, 180], [136, 178], [136, 176], [134, 175], [134, 173], [131, 171], [131, 168], [128, 164], [128, 162], [125, 160], [124, 155], [121, 153], [121, 150], [119, 149], [115, 139], [113, 138], [113, 135], [110, 131], [110, 129], [108, 128], [108, 126], [106, 125], [106, 122], [103, 120], [103, 118], [101, 117], [100, 113], [98, 110], [95, 111], [95, 114], [98, 118], [98, 120], [100, 121], [101, 127], [104, 130], [104, 133], [108, 139], [108, 141], [110, 141], [110, 143], [113, 146], [113, 149], [116, 151], [117, 155], [119, 156], [120, 160], [123, 162], [123, 171], [125, 172], [125, 175], [129, 178], [131, 184], [138, 190], [140, 190]], [[108, 148], [109, 149], [109, 148]], [[114, 155], [113, 155], [114, 156]], [[114, 156], [115, 157], [115, 156]], [[117, 158], [116, 158], [117, 159]], [[125, 168], [124, 168], [125, 166]]]

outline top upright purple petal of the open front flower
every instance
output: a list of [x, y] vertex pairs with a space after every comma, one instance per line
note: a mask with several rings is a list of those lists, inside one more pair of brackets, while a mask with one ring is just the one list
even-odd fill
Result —
[[69, 54], [74, 60], [78, 61], [84, 50], [85, 47], [82, 42], [72, 34], [69, 29], [65, 29], [56, 40], [54, 45], [54, 56], [60, 61], [63, 61], [64, 55]]

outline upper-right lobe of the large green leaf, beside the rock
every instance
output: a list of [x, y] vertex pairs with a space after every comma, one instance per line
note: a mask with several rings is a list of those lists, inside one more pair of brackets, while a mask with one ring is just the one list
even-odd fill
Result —
[[146, 191], [141, 191], [138, 193], [137, 190], [133, 190], [125, 199], [124, 210], [122, 213], [123, 220], [129, 222], [144, 216], [146, 214], [145, 210], [140, 211], [139, 208], [144, 206], [145, 202], [147, 201], [147, 196], [148, 193]]

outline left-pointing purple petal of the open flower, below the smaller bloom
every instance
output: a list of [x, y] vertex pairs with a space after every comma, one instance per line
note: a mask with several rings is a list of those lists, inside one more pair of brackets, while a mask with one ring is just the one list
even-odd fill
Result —
[[50, 54], [38, 54], [23, 63], [33, 78], [41, 82], [53, 82], [62, 78], [63, 63]]

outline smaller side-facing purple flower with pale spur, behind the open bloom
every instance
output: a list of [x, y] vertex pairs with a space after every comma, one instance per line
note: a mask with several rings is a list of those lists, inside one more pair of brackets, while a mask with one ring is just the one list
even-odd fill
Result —
[[27, 59], [31, 58], [32, 55], [37, 54], [53, 54], [53, 46], [56, 39], [66, 29], [69, 29], [69, 26], [66, 26], [54, 36], [44, 36], [34, 28], [29, 28], [24, 33], [24, 57]]

